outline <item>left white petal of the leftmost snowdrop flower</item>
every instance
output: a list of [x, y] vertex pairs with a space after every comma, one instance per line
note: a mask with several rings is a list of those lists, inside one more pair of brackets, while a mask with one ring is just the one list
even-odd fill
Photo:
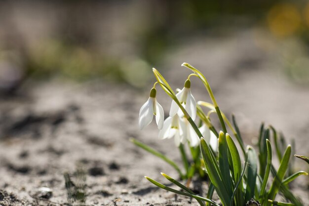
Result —
[[140, 129], [143, 129], [145, 126], [149, 125], [153, 121], [154, 118], [153, 101], [154, 101], [153, 98], [150, 97], [140, 110], [140, 116], [138, 119]]

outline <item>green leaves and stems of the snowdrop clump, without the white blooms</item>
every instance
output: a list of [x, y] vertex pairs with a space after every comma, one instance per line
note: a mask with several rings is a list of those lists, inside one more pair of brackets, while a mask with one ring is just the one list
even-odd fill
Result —
[[[197, 102], [196, 114], [199, 117], [200, 124], [207, 125], [209, 130], [211, 130], [218, 138], [218, 150], [215, 151], [209, 140], [205, 139], [202, 132], [200, 132], [200, 127], [195, 124], [189, 115], [191, 112], [187, 111], [185, 108], [186, 102], [185, 104], [181, 102], [181, 95], [179, 95], [179, 93], [175, 94], [167, 81], [155, 69], [154, 76], [157, 80], [155, 84], [159, 84], [179, 106], [183, 115], [181, 117], [189, 122], [195, 131], [195, 134], [200, 138], [199, 148], [190, 147], [193, 157], [193, 161], [190, 165], [184, 152], [185, 142], [180, 144], [179, 148], [184, 167], [186, 168], [186, 173], [183, 174], [178, 165], [166, 158], [163, 154], [135, 139], [133, 139], [132, 142], [172, 165], [179, 172], [182, 179], [190, 179], [193, 174], [200, 175], [200, 171], [204, 171], [203, 175], [207, 175], [209, 178], [208, 192], [206, 197], [197, 196], [187, 186], [165, 173], [161, 173], [162, 176], [182, 190], [175, 190], [151, 179], [150, 177], [146, 178], [162, 189], [196, 199], [200, 206], [219, 206], [219, 203], [212, 200], [214, 191], [218, 194], [223, 206], [245, 206], [245, 204], [249, 204], [250, 201], [256, 201], [257, 204], [261, 204], [262, 206], [270, 206], [271, 204], [278, 206], [301, 206], [302, 203], [290, 192], [288, 184], [299, 175], [307, 175], [308, 173], [304, 171], [292, 173], [293, 169], [290, 165], [292, 146], [286, 144], [283, 135], [278, 134], [272, 126], [265, 128], [264, 124], [262, 124], [257, 145], [258, 151], [256, 152], [256, 150], [249, 145], [245, 148], [235, 117], [232, 117], [231, 124], [224, 113], [221, 112], [204, 75], [187, 63], [182, 64], [182, 66], [193, 71], [193, 74], [188, 77], [187, 81], [190, 80], [191, 76], [198, 77], [204, 84], [212, 100], [212, 103]], [[156, 101], [156, 99], [154, 99], [154, 101]], [[206, 107], [210, 111], [205, 114], [201, 107]], [[152, 112], [156, 115], [155, 109]], [[141, 109], [140, 117], [141, 113], [143, 113], [143, 108]], [[220, 132], [217, 132], [216, 128], [211, 124], [209, 118], [211, 113], [216, 113], [218, 116], [221, 123]], [[151, 113], [150, 115], [153, 116], [153, 114]], [[172, 113], [170, 112], [170, 115], [171, 114]], [[231, 129], [234, 136], [233, 138], [227, 132], [226, 125]], [[165, 125], [163, 125], [163, 129], [164, 126]], [[192, 138], [190, 137], [188, 138], [189, 143], [191, 139]], [[273, 139], [274, 146], [270, 143], [271, 139]], [[240, 150], [238, 148], [240, 148]], [[275, 150], [275, 154], [280, 162], [278, 169], [275, 169], [273, 166], [273, 149]], [[201, 158], [202, 164], [200, 163]], [[243, 159], [244, 162], [242, 161]], [[270, 176], [272, 176], [272, 178], [270, 178]], [[275, 197], [279, 192], [289, 203], [275, 201]]]

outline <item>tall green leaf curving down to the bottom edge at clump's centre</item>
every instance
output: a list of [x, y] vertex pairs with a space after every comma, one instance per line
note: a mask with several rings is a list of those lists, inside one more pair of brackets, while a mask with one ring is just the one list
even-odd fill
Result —
[[[227, 143], [228, 143], [231, 156], [232, 156], [232, 163], [233, 163], [233, 170], [234, 170], [233, 179], [234, 179], [234, 183], [236, 184], [234, 192], [233, 192], [234, 193], [233, 196], [236, 194], [236, 203], [242, 206], [244, 205], [244, 191], [243, 191], [243, 183], [242, 183], [241, 174], [242, 173], [244, 174], [244, 170], [242, 172], [240, 156], [239, 156], [237, 147], [234, 141], [232, 140], [232, 137], [229, 134], [227, 134], [226, 138], [227, 138]], [[247, 161], [245, 163], [247, 163]]]

